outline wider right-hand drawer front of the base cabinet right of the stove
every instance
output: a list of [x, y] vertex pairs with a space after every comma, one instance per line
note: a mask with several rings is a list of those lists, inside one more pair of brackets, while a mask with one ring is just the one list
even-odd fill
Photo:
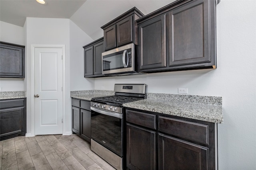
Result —
[[208, 125], [159, 116], [158, 128], [160, 132], [209, 145]]

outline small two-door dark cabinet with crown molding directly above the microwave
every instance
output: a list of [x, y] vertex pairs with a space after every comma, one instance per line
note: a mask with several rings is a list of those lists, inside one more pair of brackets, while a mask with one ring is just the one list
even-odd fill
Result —
[[105, 51], [128, 43], [137, 44], [137, 25], [135, 20], [143, 16], [134, 7], [106, 25], [103, 25], [101, 28], [104, 31]]

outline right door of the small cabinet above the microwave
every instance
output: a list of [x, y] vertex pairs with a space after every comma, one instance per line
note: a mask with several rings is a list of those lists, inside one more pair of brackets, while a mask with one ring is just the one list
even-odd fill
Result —
[[116, 23], [117, 46], [132, 42], [132, 16]]

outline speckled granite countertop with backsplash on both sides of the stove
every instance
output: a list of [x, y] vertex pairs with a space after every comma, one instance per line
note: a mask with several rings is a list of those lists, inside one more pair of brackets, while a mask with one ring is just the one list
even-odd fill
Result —
[[[112, 96], [113, 91], [72, 91], [70, 96], [82, 100]], [[124, 107], [186, 117], [213, 123], [223, 123], [222, 97], [181, 94], [147, 93], [147, 99], [123, 104]]]

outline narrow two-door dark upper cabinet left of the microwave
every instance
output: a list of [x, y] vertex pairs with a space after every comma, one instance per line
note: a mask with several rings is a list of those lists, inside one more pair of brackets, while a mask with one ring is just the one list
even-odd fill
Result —
[[102, 77], [102, 55], [104, 52], [103, 37], [85, 45], [84, 48], [84, 77]]

